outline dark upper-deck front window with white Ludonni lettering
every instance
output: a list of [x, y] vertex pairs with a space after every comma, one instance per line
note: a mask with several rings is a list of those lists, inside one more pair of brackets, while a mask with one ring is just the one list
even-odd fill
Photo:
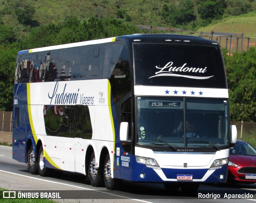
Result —
[[136, 85], [226, 88], [218, 47], [134, 43]]

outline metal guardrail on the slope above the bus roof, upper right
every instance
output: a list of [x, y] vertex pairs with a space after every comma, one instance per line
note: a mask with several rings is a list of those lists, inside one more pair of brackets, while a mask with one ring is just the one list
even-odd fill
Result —
[[[192, 34], [199, 34], [199, 37], [207, 37], [209, 39], [217, 41], [220, 45], [224, 46], [226, 44], [226, 49], [229, 50], [229, 55], [231, 54], [231, 49], [232, 47], [236, 47], [235, 50], [238, 51], [238, 47], [240, 47], [240, 52], [243, 51], [244, 47], [244, 39], [247, 39], [247, 47], [246, 51], [249, 50], [250, 46], [250, 39], [256, 39], [256, 37], [244, 37], [244, 33], [226, 33], [226, 32], [198, 32], [198, 31], [191, 31], [191, 30], [183, 30], [183, 28], [178, 29], [178, 28], [164, 28], [164, 27], [155, 27], [155, 26], [143, 26], [143, 25], [136, 25], [137, 28], [142, 29], [149, 29], [150, 34], [153, 33], [153, 30], [164, 30], [167, 32], [170, 32], [170, 34], [174, 33], [180, 33], [181, 35], [184, 33], [188, 33], [190, 35]], [[216, 39], [214, 39], [216, 37]], [[221, 39], [223, 37], [226, 37], [226, 41], [223, 43]], [[236, 44], [232, 46], [232, 39], [236, 39]], [[229, 42], [229, 46], [228, 46]], [[228, 49], [229, 48], [229, 49]]]

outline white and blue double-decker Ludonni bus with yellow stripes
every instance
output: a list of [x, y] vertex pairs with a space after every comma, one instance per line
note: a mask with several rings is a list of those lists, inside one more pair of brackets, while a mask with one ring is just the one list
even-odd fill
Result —
[[19, 51], [13, 111], [15, 160], [32, 174], [72, 171], [107, 189], [223, 183], [236, 142], [220, 46], [188, 35]]

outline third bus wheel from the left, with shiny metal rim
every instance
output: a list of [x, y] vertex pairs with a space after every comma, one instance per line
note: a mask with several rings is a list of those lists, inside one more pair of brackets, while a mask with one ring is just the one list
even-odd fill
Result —
[[93, 187], [103, 186], [102, 174], [100, 167], [96, 166], [95, 154], [92, 152], [90, 156], [90, 165], [88, 167], [88, 175]]

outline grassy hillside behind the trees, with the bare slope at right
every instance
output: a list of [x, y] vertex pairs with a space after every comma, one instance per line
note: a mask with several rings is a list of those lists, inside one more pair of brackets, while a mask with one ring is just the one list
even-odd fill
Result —
[[[196, 0], [192, 1], [194, 2], [194, 14], [197, 17], [194, 24], [199, 24], [202, 19], [199, 19]], [[14, 4], [17, 2], [20, 2], [21, 7], [29, 4], [35, 9], [32, 26], [23, 26], [18, 22], [14, 10]], [[171, 5], [175, 2], [177, 3], [179, 0], [2, 0], [2, 4], [0, 4], [0, 23], [16, 28], [22, 35], [28, 34], [33, 26], [46, 25], [50, 22], [62, 22], [66, 17], [72, 15], [81, 21], [91, 16], [97, 16], [98, 18], [118, 18], [122, 22], [134, 25], [173, 28], [162, 18], [161, 12], [164, 4]], [[239, 0], [226, 0], [226, 2], [231, 5], [231, 3], [239, 2]], [[240, 34], [243, 32], [244, 37], [256, 37], [256, 0], [242, 0], [242, 2], [250, 4], [251, 10], [254, 10], [254, 12], [240, 16], [229, 16], [218, 21], [214, 20], [209, 26], [195, 30], [199, 32], [211, 32], [213, 30], [214, 32]], [[226, 10], [228, 9], [231, 8], [228, 7]], [[227, 11], [224, 16], [228, 16]], [[176, 28], [181, 28], [181, 26]], [[185, 26], [185, 29], [192, 30], [192, 26]], [[150, 30], [143, 30], [143, 33], [149, 32]], [[154, 31], [154, 33], [167, 32]], [[254, 45], [255, 41], [254, 38], [250, 39], [250, 45]]]

